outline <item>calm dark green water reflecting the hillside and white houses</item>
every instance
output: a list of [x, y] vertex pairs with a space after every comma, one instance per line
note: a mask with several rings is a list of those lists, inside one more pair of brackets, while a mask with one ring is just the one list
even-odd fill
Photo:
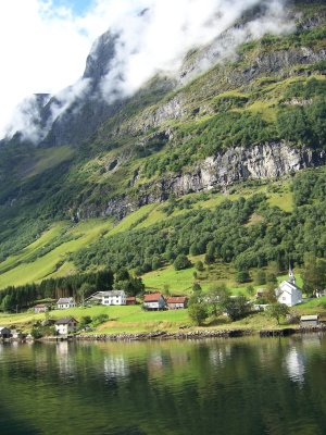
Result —
[[0, 345], [0, 434], [326, 434], [326, 335]]

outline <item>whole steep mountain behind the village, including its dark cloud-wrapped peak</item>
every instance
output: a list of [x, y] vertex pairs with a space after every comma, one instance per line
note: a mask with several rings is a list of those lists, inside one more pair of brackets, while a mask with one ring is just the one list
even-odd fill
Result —
[[[306, 252], [325, 256], [326, 5], [288, 2], [280, 32], [267, 25], [266, 4], [188, 51], [174, 74], [158, 72], [131, 94], [120, 86], [105, 94], [120, 47], [120, 35], [109, 30], [78, 83], [30, 100], [29, 130], [0, 144], [1, 287], [109, 262], [143, 273], [154, 260], [166, 265], [189, 254], [193, 244], [201, 247], [192, 253], [213, 249], [213, 258], [238, 268], [244, 258], [246, 268], [255, 268], [280, 257], [302, 264]], [[218, 236], [213, 210], [223, 198], [235, 200], [218, 213], [239, 248], [226, 233]], [[275, 231], [268, 253], [261, 246], [252, 252], [252, 215], [256, 237]], [[316, 246], [305, 232], [312, 219]]]

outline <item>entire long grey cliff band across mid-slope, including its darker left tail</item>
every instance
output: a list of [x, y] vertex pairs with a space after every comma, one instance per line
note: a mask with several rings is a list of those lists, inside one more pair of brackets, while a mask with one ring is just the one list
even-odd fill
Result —
[[308, 147], [294, 148], [286, 142], [236, 147], [206, 158], [192, 171], [171, 174], [155, 183], [142, 185], [136, 196], [114, 198], [104, 209], [82, 208], [79, 216], [112, 215], [121, 220], [139, 207], [166, 200], [172, 194], [181, 197], [190, 192], [211, 190], [251, 179], [276, 178], [326, 163], [326, 152]]

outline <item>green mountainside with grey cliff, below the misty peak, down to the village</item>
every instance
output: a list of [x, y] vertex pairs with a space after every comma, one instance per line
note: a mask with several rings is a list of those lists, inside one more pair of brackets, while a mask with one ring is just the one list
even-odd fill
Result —
[[0, 288], [126, 269], [152, 289], [246, 293], [258, 270], [325, 258], [326, 5], [289, 8], [292, 33], [173, 89], [154, 77], [78, 145], [2, 144]]

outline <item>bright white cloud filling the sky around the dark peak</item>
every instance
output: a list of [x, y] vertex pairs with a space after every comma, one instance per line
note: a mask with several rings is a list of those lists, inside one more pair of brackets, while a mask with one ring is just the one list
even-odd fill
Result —
[[[121, 35], [102, 84], [110, 100], [116, 91], [133, 94], [159, 70], [175, 71], [189, 49], [208, 44], [243, 11], [262, 2], [273, 5], [273, 18], [265, 20], [265, 28], [278, 32], [281, 0], [90, 0], [84, 16], [75, 16], [67, 8], [55, 9], [52, 0], [1, 0], [0, 137], [14, 108], [26, 97], [58, 94], [77, 83], [65, 94], [61, 113], [78, 90], [85, 91], [87, 84], [78, 79], [87, 54], [108, 28]], [[140, 15], [146, 8], [147, 13]], [[251, 34], [262, 33], [260, 24], [252, 24]], [[15, 127], [24, 125], [17, 116], [15, 112]]]

